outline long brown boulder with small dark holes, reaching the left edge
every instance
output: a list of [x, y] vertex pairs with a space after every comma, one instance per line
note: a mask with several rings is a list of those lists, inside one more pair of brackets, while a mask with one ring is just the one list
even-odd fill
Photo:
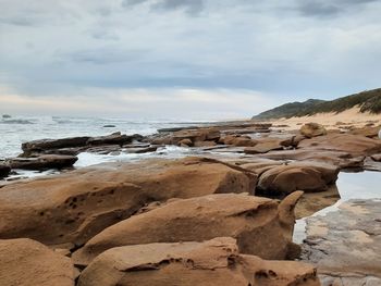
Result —
[[2, 187], [0, 238], [81, 245], [149, 202], [255, 185], [253, 172], [202, 158], [100, 164]]

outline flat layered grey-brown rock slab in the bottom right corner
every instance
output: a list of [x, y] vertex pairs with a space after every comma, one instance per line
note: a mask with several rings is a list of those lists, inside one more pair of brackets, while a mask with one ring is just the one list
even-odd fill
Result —
[[380, 200], [351, 200], [339, 208], [307, 219], [303, 260], [317, 265], [324, 281], [339, 278], [340, 286], [380, 285]]

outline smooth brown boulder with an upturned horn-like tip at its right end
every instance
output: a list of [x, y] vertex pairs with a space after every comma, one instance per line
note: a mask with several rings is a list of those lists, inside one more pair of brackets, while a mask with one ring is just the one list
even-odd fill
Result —
[[204, 241], [222, 236], [236, 238], [243, 253], [285, 259], [295, 250], [294, 207], [302, 194], [294, 192], [280, 204], [245, 194], [179, 199], [106, 228], [74, 252], [73, 259], [86, 265], [113, 247]]

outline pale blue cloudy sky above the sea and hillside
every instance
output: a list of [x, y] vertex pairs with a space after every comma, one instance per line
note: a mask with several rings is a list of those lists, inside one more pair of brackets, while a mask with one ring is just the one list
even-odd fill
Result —
[[380, 87], [381, 0], [0, 0], [0, 113], [221, 120]]

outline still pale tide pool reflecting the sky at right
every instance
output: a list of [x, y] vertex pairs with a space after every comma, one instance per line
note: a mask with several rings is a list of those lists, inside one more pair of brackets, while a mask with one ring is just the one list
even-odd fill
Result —
[[[341, 172], [336, 182], [341, 199], [335, 204], [316, 212], [312, 216], [325, 215], [329, 212], [336, 211], [341, 203], [351, 199], [380, 199], [380, 182], [381, 172]], [[303, 239], [306, 238], [306, 219], [307, 217], [296, 221], [293, 237], [296, 244], [302, 244]]]

